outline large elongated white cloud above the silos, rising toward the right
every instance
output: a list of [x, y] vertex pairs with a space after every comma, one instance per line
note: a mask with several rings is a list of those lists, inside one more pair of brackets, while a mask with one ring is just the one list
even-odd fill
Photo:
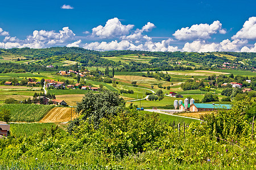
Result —
[[221, 23], [216, 20], [212, 24], [195, 24], [191, 28], [181, 28], [175, 31], [173, 36], [177, 40], [205, 40], [210, 39], [210, 35], [215, 33], [226, 33], [224, 29], [221, 29]]

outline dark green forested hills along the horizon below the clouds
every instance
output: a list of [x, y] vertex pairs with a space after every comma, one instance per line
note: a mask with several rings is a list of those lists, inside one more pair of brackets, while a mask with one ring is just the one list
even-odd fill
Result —
[[[197, 69], [220, 69], [222, 63], [227, 62], [233, 66], [235, 63], [236, 69], [254, 70], [256, 67], [256, 53], [237, 53], [237, 52], [215, 52], [215, 53], [195, 53], [195, 52], [146, 52], [137, 50], [115, 50], [98, 52], [95, 50], [87, 50], [77, 47], [52, 47], [45, 49], [30, 49], [30, 48], [13, 48], [2, 49], [2, 54], [12, 53], [15, 55], [26, 56], [29, 59], [40, 61], [38, 65], [49, 65], [53, 62], [61, 62], [64, 60], [76, 61], [82, 63], [82, 66], [120, 66], [117, 71], [164, 71], [164, 70], [191, 70], [193, 66], [179, 66], [177, 62], [187, 61], [199, 63], [200, 68]], [[129, 63], [121, 63], [110, 61], [102, 57], [123, 56], [127, 54], [152, 56], [149, 63], [141, 63], [130, 61]], [[222, 54], [222, 56], [220, 55]], [[234, 56], [235, 59], [224, 57], [223, 55]], [[247, 64], [243, 64], [243, 59], [250, 59]]]

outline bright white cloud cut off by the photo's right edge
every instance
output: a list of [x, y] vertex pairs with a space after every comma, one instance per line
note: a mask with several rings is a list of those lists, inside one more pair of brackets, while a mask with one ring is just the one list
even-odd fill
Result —
[[249, 18], [249, 20], [243, 24], [243, 28], [240, 29], [232, 39], [256, 40], [256, 17]]

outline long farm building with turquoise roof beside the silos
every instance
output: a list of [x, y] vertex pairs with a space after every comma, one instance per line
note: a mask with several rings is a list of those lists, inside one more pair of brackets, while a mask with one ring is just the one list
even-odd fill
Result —
[[214, 111], [216, 109], [231, 109], [230, 104], [205, 104], [205, 103], [193, 103], [190, 105], [190, 112], [200, 112], [200, 111]]

